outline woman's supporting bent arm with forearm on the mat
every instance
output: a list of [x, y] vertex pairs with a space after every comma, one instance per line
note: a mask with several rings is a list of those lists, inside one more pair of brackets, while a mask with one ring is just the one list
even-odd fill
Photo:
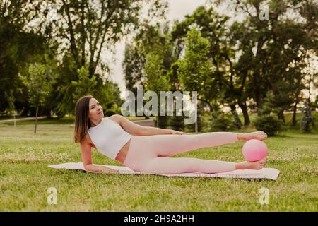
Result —
[[92, 147], [87, 142], [81, 144], [81, 155], [84, 169], [87, 172], [104, 172], [104, 173], [116, 173], [118, 170], [110, 169], [100, 165], [94, 165], [92, 159]]

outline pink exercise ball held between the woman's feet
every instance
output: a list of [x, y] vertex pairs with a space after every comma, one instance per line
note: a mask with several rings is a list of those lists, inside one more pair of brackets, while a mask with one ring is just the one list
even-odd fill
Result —
[[251, 139], [245, 142], [242, 148], [245, 160], [255, 162], [263, 159], [267, 155], [267, 146], [263, 141]]

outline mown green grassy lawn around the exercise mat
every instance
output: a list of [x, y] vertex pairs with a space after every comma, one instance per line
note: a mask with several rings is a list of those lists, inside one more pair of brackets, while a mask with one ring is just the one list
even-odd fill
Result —
[[[270, 181], [50, 169], [47, 165], [81, 161], [73, 126], [40, 124], [34, 136], [33, 124], [23, 123], [16, 128], [0, 124], [0, 211], [318, 211], [317, 131], [290, 130], [266, 139], [266, 167], [281, 170], [278, 180]], [[238, 162], [243, 161], [242, 145], [238, 141], [174, 157]], [[95, 149], [93, 160], [121, 165]], [[56, 205], [47, 203], [50, 187], [57, 189]], [[259, 203], [262, 187], [269, 189], [268, 205]]]

